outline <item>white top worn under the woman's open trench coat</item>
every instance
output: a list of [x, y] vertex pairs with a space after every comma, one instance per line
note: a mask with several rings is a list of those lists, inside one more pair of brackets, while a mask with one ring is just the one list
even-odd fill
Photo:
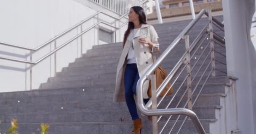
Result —
[[[131, 42], [133, 42], [134, 36], [138, 32], [139, 28], [133, 29], [131, 33], [128, 36], [128, 39], [131, 39]], [[127, 55], [127, 64], [137, 63], [135, 59], [135, 53], [134, 49], [132, 48], [133, 44], [131, 44], [131, 47], [129, 49], [128, 55]]]

